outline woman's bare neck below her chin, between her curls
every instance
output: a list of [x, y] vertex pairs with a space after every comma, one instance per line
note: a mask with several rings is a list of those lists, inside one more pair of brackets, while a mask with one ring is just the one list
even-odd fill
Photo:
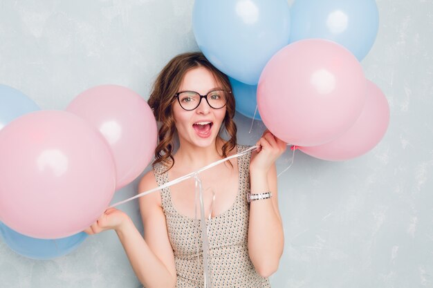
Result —
[[174, 163], [181, 164], [188, 171], [196, 171], [208, 164], [221, 160], [223, 140], [219, 137], [207, 147], [197, 147], [190, 143], [180, 143], [174, 155]]

